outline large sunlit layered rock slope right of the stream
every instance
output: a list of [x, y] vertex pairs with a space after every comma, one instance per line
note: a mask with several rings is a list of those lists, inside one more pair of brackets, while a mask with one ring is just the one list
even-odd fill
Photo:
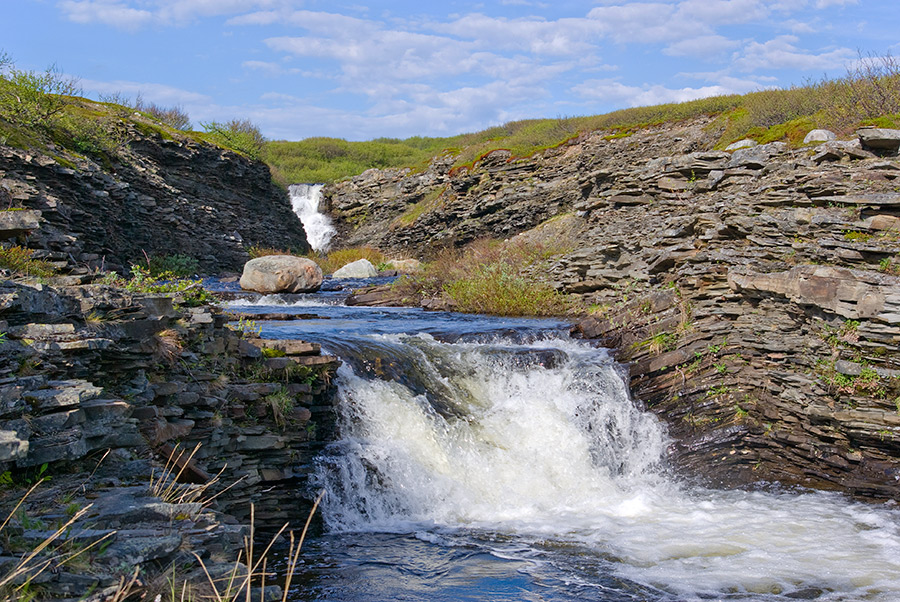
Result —
[[857, 139], [716, 151], [709, 125], [372, 172], [326, 197], [341, 243], [425, 257], [565, 214], [574, 250], [547, 277], [593, 304], [578, 330], [629, 363], [676, 467], [897, 497], [900, 160]]

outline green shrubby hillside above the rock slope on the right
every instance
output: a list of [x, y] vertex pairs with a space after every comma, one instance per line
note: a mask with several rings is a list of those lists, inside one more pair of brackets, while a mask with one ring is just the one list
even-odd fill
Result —
[[623, 137], [642, 127], [701, 115], [715, 118], [711, 128], [719, 135], [719, 147], [741, 138], [761, 143], [785, 140], [796, 145], [815, 128], [848, 134], [866, 124], [900, 127], [900, 62], [890, 56], [867, 58], [843, 78], [783, 90], [636, 107], [605, 115], [527, 119], [450, 138], [269, 142], [264, 158], [282, 183], [331, 182], [373, 167], [421, 169], [442, 153], [454, 155], [456, 165], [470, 164], [500, 148], [514, 156], [529, 156], [585, 132], [608, 131], [610, 136]]

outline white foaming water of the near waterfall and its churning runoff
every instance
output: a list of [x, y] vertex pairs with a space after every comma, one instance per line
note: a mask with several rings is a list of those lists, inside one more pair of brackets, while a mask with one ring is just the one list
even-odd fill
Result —
[[330, 528], [586, 546], [665, 599], [900, 599], [896, 511], [680, 485], [659, 470], [662, 428], [603, 352], [385, 340], [440, 403], [341, 368], [345, 439], [319, 474]]

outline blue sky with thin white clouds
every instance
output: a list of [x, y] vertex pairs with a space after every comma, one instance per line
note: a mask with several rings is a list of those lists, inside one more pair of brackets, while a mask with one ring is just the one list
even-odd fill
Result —
[[448, 136], [900, 54], [898, 0], [5, 0], [0, 49], [271, 139]]

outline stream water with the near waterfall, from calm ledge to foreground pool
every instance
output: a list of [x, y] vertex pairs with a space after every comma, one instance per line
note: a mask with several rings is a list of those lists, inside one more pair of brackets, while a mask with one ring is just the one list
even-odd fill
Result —
[[293, 600], [900, 599], [900, 512], [679, 482], [621, 367], [560, 322], [238, 303], [319, 314], [262, 334], [345, 360]]

